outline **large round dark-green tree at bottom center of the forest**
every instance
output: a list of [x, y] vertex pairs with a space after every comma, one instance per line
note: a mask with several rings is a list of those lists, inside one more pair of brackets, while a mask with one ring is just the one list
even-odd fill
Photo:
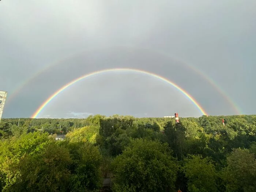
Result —
[[174, 189], [177, 165], [167, 144], [136, 139], [113, 161], [113, 191]]

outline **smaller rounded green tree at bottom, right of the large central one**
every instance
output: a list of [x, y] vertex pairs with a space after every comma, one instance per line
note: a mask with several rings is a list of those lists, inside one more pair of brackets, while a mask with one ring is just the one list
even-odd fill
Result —
[[190, 192], [217, 192], [217, 172], [209, 158], [200, 155], [189, 155], [183, 167], [188, 178], [188, 191]]

